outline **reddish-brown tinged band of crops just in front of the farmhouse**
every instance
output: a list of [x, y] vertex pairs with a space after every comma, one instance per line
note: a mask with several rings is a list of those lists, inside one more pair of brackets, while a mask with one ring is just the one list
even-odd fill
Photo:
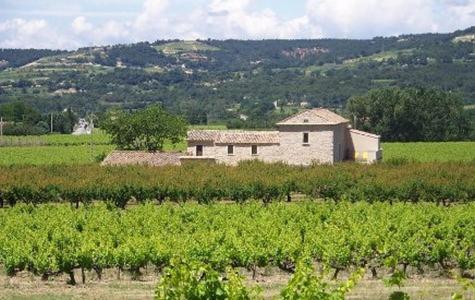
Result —
[[338, 164], [292, 167], [247, 162], [238, 167], [12, 166], [0, 168], [0, 206], [96, 200], [125, 207], [147, 200], [245, 202], [308, 197], [334, 202], [434, 202], [475, 199], [475, 164]]

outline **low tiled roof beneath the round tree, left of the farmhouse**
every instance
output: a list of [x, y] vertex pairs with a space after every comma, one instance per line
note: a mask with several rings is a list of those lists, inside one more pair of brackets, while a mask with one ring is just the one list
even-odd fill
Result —
[[148, 165], [179, 166], [182, 153], [146, 152], [146, 151], [113, 151], [102, 161], [103, 166]]

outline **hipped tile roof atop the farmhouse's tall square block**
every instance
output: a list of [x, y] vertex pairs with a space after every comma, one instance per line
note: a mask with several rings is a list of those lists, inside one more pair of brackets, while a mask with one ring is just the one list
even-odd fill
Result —
[[336, 125], [347, 122], [347, 119], [328, 109], [314, 108], [290, 116], [277, 125]]

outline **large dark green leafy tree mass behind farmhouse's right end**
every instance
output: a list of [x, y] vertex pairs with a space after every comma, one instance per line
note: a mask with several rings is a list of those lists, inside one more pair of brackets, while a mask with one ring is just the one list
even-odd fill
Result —
[[448, 141], [470, 136], [460, 95], [438, 89], [371, 90], [347, 103], [353, 126], [385, 141]]

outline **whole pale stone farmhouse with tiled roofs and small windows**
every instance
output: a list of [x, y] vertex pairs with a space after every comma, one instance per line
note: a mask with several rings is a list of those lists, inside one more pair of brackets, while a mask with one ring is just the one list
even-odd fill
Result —
[[352, 129], [349, 121], [327, 109], [305, 110], [277, 123], [276, 131], [192, 130], [180, 160], [208, 160], [236, 165], [242, 160], [290, 165], [368, 163], [382, 157], [380, 137]]

